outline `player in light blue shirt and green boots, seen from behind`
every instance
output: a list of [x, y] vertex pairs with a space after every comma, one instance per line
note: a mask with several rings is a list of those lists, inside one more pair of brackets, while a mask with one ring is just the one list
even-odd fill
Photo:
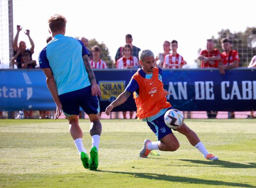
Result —
[[[54, 102], [58, 118], [63, 112], [69, 120], [69, 131], [80, 153], [85, 168], [96, 170], [98, 150], [102, 125], [99, 116], [100, 87], [96, 83], [92, 67], [89, 63], [90, 55], [84, 44], [72, 37], [64, 36], [66, 32], [66, 18], [53, 15], [48, 20], [52, 40], [39, 54], [39, 65], [46, 75], [46, 83]], [[90, 159], [83, 147], [83, 132], [78, 124], [79, 108], [83, 108], [90, 119], [90, 135], [92, 149]]]

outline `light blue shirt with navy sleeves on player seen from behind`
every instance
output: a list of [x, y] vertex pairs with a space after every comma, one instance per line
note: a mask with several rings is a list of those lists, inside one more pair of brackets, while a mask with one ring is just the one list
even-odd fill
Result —
[[40, 68], [52, 69], [59, 95], [91, 85], [84, 55], [90, 53], [80, 40], [62, 34], [55, 35], [39, 53]]

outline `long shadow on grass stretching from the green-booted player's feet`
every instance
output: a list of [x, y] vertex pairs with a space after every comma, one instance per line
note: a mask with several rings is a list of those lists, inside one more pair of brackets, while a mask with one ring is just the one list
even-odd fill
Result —
[[207, 179], [189, 178], [189, 177], [181, 177], [181, 176], [168, 176], [164, 174], [129, 173], [129, 172], [102, 171], [102, 170], [97, 170], [97, 171], [114, 173], [114, 174], [128, 174], [130, 176], [133, 176], [134, 178], [156, 179], [156, 180], [164, 180], [164, 181], [178, 182], [178, 183], [191, 183], [191, 184], [194, 183], [194, 184], [205, 184], [205, 185], [214, 185], [214, 186], [223, 185], [223, 186], [238, 186], [238, 187], [254, 187], [246, 183], [232, 183], [232, 182], [226, 182], [226, 181], [207, 180]]

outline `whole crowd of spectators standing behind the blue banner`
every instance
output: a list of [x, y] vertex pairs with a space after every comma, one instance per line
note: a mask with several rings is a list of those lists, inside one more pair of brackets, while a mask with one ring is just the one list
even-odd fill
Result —
[[[30, 31], [26, 30], [24, 33], [28, 36], [31, 48], [26, 48], [26, 43], [20, 41], [18, 45], [19, 34], [22, 31], [21, 26], [17, 26], [17, 34], [13, 41], [14, 56], [10, 63], [11, 67], [14, 65], [17, 68], [35, 68], [36, 61], [32, 60], [32, 54], [34, 53], [35, 44], [30, 37]], [[87, 48], [88, 39], [85, 37], [78, 38]], [[52, 37], [48, 37], [46, 42], [49, 43]], [[133, 38], [131, 34], [126, 34], [125, 44], [120, 46], [116, 51], [114, 67], [116, 68], [139, 68], [138, 52], [140, 48], [132, 44]], [[199, 54], [198, 60], [201, 61], [201, 68], [218, 68], [220, 74], [225, 74], [226, 69], [235, 68], [239, 65], [239, 54], [236, 50], [232, 50], [232, 41], [228, 38], [224, 38], [221, 41], [223, 52], [214, 48], [214, 41], [212, 39], [206, 40], [206, 50], [202, 50]], [[187, 62], [183, 59], [183, 56], [177, 53], [178, 41], [172, 40], [164, 41], [163, 52], [156, 56], [156, 67], [159, 68], [182, 68]], [[108, 68], [107, 63], [102, 60], [101, 49], [95, 45], [90, 51], [90, 64], [92, 68], [104, 69]], [[256, 55], [251, 60], [248, 68], [256, 67]], [[217, 111], [207, 111], [208, 118], [216, 118]], [[231, 113], [231, 118], [235, 118], [235, 113]], [[254, 118], [254, 112], [252, 111], [248, 118]], [[48, 118], [50, 111], [40, 111], [42, 118]], [[132, 118], [133, 112], [130, 112], [130, 118]], [[0, 112], [0, 118], [2, 118], [2, 112]], [[33, 118], [33, 111], [24, 111], [25, 118]], [[126, 112], [123, 112], [123, 117], [126, 118]]]

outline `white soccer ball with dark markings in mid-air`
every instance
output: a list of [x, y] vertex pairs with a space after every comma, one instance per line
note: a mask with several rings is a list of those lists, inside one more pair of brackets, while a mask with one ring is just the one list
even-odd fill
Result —
[[167, 110], [164, 114], [164, 123], [172, 129], [180, 127], [183, 124], [183, 121], [184, 116], [181, 111], [177, 109]]

